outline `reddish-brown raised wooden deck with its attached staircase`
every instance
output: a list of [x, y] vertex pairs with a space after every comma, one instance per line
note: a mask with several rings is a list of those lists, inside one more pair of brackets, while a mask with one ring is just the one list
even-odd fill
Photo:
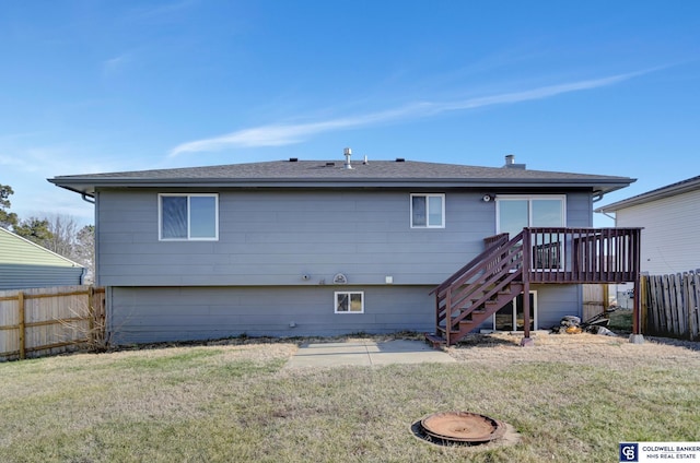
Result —
[[[530, 283], [635, 283], [639, 287], [641, 228], [532, 227], [483, 240], [485, 250], [445, 280], [435, 295], [435, 335], [454, 344]], [[509, 239], [510, 238], [510, 239]], [[529, 298], [524, 298], [525, 340]], [[634, 295], [639, 334], [639, 294]], [[431, 341], [433, 344], [435, 340]]]

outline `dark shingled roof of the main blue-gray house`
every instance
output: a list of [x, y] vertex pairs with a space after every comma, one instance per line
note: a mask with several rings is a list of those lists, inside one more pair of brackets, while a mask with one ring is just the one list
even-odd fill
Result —
[[396, 161], [275, 161], [222, 166], [58, 176], [51, 183], [85, 195], [98, 188], [583, 188], [605, 194], [635, 179], [587, 174], [528, 170], [522, 164], [477, 167]]

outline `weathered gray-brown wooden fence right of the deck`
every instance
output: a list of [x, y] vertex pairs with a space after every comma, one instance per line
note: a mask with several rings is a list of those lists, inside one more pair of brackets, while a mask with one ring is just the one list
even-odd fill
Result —
[[695, 341], [700, 337], [700, 270], [643, 275], [643, 332]]

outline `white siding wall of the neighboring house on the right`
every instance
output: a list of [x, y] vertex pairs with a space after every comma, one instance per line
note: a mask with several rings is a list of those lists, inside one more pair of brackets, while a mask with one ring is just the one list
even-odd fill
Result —
[[617, 227], [644, 227], [642, 272], [700, 269], [700, 190], [620, 209], [616, 217]]

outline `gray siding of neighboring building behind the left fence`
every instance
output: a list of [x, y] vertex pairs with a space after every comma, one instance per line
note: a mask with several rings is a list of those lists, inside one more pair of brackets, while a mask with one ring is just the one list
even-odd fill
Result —
[[83, 271], [82, 266], [0, 263], [0, 289], [81, 285]]

